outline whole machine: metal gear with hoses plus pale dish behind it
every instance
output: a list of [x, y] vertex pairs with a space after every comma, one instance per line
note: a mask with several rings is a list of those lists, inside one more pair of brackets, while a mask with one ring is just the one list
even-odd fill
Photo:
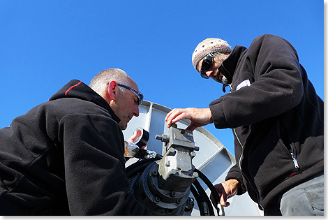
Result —
[[[142, 128], [139, 131], [140, 135], [133, 142], [138, 148], [143, 147], [147, 142], [146, 147], [143, 147], [147, 152], [143, 151], [140, 156], [134, 156], [126, 161], [126, 174], [131, 183], [131, 191], [135, 193], [136, 198], [157, 215], [263, 216], [262, 211], [258, 209], [258, 204], [251, 200], [248, 193], [233, 196], [229, 199], [229, 207], [224, 207], [224, 210], [219, 207], [216, 210], [209, 196], [211, 193], [217, 195], [214, 185], [225, 181], [227, 173], [236, 164], [236, 160], [223, 143], [207, 131], [206, 127], [199, 127], [192, 133], [189, 131], [184, 133], [184, 129], [191, 122], [182, 119], [176, 122], [176, 127], [167, 128], [165, 117], [170, 110], [172, 109], [144, 100], [139, 106], [139, 117], [133, 117], [128, 123], [128, 128], [123, 131], [124, 139], [128, 140], [136, 128]], [[147, 141], [143, 139], [143, 131], [147, 131], [144, 132], [145, 137], [149, 135]], [[222, 135], [221, 131], [216, 134]], [[172, 155], [173, 152], [176, 153]], [[148, 157], [153, 158], [147, 159]], [[170, 166], [165, 166], [167, 161], [170, 161], [167, 163]], [[188, 167], [191, 166], [191, 176], [188, 177], [186, 175], [189, 175], [189, 171], [185, 171], [187, 164]], [[185, 170], [179, 170], [178, 166]], [[169, 175], [170, 170], [173, 169], [177, 171], [174, 177], [172, 174]], [[154, 173], [155, 170], [157, 174]], [[142, 178], [147, 179], [147, 182], [146, 180], [142, 182]], [[180, 184], [183, 187], [180, 187]], [[179, 191], [177, 191], [178, 187], [180, 187]]]

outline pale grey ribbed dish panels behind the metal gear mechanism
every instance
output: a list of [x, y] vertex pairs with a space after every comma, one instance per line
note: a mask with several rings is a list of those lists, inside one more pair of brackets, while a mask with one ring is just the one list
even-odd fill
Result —
[[[164, 119], [170, 110], [170, 108], [166, 108], [163, 105], [143, 101], [139, 108], [139, 117], [133, 117], [131, 122], [128, 123], [128, 128], [124, 130], [125, 140], [133, 135], [135, 129], [140, 127], [149, 132], [147, 149], [154, 150], [157, 154], [163, 155], [163, 142], [161, 142], [161, 140], [156, 140], [155, 137], [156, 135], [167, 134], [168, 128]], [[190, 124], [188, 119], [177, 122], [179, 129], [186, 129], [188, 124]], [[193, 165], [195, 168], [204, 173], [212, 184], [224, 182], [225, 175], [227, 175], [230, 168], [236, 163], [234, 156], [214, 137], [214, 135], [202, 127], [193, 131], [193, 138], [195, 146], [200, 147], [200, 150], [195, 152], [196, 156], [193, 158]], [[136, 159], [130, 159], [126, 163], [126, 166], [135, 161]], [[201, 179], [199, 182], [209, 196], [211, 192], [206, 184], [204, 184]], [[263, 215], [262, 211], [258, 209], [258, 205], [249, 198], [247, 193], [244, 193], [242, 196], [234, 196], [229, 199], [229, 202], [230, 206], [224, 207], [226, 216]], [[200, 215], [197, 203], [195, 203], [195, 207], [191, 214]]]

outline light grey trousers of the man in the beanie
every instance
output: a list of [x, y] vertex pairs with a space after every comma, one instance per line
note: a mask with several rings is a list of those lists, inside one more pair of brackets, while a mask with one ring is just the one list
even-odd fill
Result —
[[264, 210], [264, 215], [323, 216], [323, 173], [285, 192], [281, 196], [280, 208]]

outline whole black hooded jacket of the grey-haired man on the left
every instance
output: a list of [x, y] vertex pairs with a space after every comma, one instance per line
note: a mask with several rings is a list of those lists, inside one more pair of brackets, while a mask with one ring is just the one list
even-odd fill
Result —
[[72, 80], [0, 130], [0, 215], [144, 215], [105, 99]]

